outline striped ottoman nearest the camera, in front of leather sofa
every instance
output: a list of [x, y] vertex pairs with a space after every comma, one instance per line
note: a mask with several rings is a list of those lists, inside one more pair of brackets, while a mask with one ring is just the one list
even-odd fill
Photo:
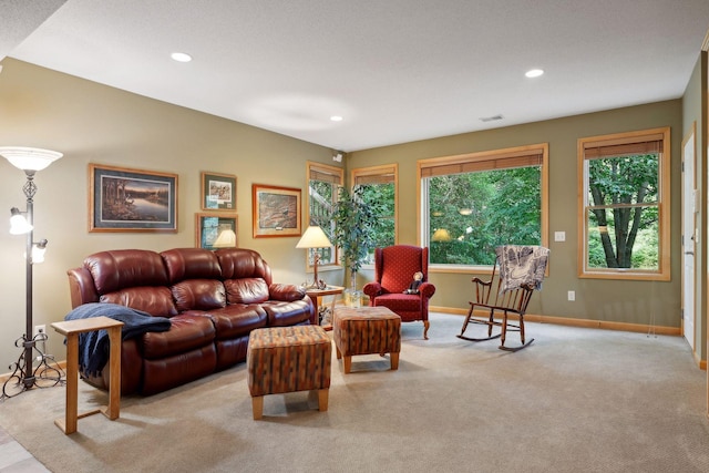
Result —
[[328, 410], [332, 345], [318, 326], [253, 330], [246, 366], [254, 419], [264, 415], [264, 395], [318, 390], [318, 410]]

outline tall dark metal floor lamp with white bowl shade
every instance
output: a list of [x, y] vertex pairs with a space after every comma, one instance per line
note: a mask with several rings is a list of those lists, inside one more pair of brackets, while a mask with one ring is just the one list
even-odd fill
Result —
[[[33, 204], [37, 185], [34, 184], [34, 173], [41, 171], [62, 157], [61, 153], [31, 147], [0, 147], [0, 156], [7, 158], [14, 167], [24, 172], [27, 182], [22, 187], [27, 197], [27, 210], [21, 212], [17, 207], [10, 209], [10, 233], [13, 235], [27, 235], [25, 245], [25, 329], [22, 337], [16, 340], [14, 345], [22, 348], [22, 353], [10, 369], [14, 371], [2, 384], [2, 395], [0, 399], [12, 398], [33, 387], [55, 385], [61, 382], [63, 372], [47, 363], [48, 357], [37, 347], [38, 341], [47, 340], [47, 333], [33, 336], [32, 322], [32, 265], [41, 263], [44, 258], [47, 240], [34, 241], [33, 235]], [[40, 363], [34, 368], [34, 352], [38, 353]], [[43, 381], [43, 383], [38, 383]]]

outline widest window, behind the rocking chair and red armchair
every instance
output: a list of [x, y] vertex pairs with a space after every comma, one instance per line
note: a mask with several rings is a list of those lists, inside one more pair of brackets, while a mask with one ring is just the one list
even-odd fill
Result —
[[495, 247], [547, 245], [548, 145], [419, 161], [432, 269], [492, 266]]

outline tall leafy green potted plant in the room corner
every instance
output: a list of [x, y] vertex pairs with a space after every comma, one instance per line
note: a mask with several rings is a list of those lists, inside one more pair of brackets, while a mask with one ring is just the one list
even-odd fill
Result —
[[367, 254], [374, 246], [374, 229], [379, 216], [377, 203], [366, 203], [364, 188], [354, 186], [352, 192], [340, 187], [332, 212], [335, 230], [332, 241], [341, 249], [341, 260], [350, 270], [351, 289], [345, 291], [345, 300], [358, 305], [361, 294], [357, 290], [357, 273]]

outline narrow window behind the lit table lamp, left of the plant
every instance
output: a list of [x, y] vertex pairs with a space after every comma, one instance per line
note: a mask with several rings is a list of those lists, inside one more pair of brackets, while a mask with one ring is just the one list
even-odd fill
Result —
[[[343, 171], [327, 164], [308, 162], [308, 225], [318, 225], [332, 239], [335, 225], [330, 216], [337, 202], [338, 189], [343, 183]], [[308, 250], [308, 268], [312, 267], [315, 249]], [[318, 268], [339, 265], [336, 247], [318, 249], [320, 263]]]

